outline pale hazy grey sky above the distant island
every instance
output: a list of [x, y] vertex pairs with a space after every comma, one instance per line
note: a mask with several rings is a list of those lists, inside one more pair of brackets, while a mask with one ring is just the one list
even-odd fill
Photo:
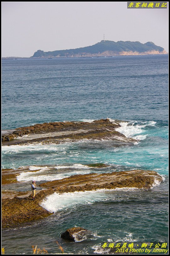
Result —
[[2, 57], [90, 46], [103, 40], [154, 42], [168, 51], [168, 9], [127, 2], [2, 2]]

